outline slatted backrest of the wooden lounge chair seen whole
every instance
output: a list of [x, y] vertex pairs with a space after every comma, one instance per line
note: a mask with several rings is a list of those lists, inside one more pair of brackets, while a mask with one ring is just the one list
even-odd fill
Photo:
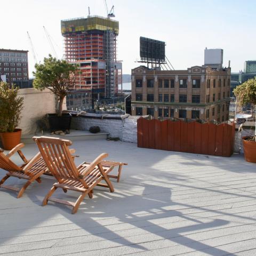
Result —
[[68, 146], [72, 145], [70, 140], [53, 137], [33, 137], [38, 149], [54, 177], [60, 179], [79, 179], [79, 172], [71, 157]]

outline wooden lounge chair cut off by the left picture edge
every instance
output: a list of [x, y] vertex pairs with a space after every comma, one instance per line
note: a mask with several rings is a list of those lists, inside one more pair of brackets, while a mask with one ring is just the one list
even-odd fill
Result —
[[[0, 168], [7, 171], [5, 177], [2, 180], [0, 180], [0, 187], [17, 191], [17, 198], [22, 196], [25, 189], [33, 181], [36, 180], [38, 183], [41, 183], [40, 176], [44, 174], [45, 170], [47, 169], [47, 166], [44, 163], [44, 160], [42, 159], [40, 153], [37, 153], [30, 161], [28, 161], [20, 150], [24, 146], [25, 145], [23, 143], [20, 143], [19, 145], [14, 147], [7, 155], [5, 155], [3, 153], [4, 150], [0, 148]], [[22, 161], [24, 162], [22, 165], [16, 165], [11, 161], [10, 157], [15, 153], [18, 153], [20, 155]], [[12, 186], [3, 185], [3, 183], [10, 177], [17, 177], [19, 179], [25, 179], [28, 181], [20, 189]]]

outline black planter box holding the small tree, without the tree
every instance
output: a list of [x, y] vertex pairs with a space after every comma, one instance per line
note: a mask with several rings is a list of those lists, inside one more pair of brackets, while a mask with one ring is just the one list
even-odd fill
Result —
[[66, 131], [70, 130], [71, 125], [71, 114], [63, 113], [62, 116], [57, 116], [56, 114], [48, 114], [49, 125], [51, 132], [54, 131]]

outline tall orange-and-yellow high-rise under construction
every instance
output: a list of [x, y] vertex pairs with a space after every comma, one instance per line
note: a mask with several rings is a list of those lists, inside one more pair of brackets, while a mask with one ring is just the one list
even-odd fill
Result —
[[72, 90], [92, 90], [93, 98], [113, 98], [122, 83], [122, 63], [118, 62], [119, 22], [98, 16], [61, 20], [65, 58], [79, 65]]

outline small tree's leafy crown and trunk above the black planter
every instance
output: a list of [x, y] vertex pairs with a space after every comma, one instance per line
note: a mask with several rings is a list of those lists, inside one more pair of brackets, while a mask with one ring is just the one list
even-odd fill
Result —
[[44, 58], [43, 64], [36, 64], [35, 69], [33, 86], [38, 90], [47, 88], [56, 95], [58, 102], [56, 114], [61, 116], [63, 100], [68, 90], [75, 86], [78, 66], [66, 60], [57, 60], [49, 54], [49, 58]]

